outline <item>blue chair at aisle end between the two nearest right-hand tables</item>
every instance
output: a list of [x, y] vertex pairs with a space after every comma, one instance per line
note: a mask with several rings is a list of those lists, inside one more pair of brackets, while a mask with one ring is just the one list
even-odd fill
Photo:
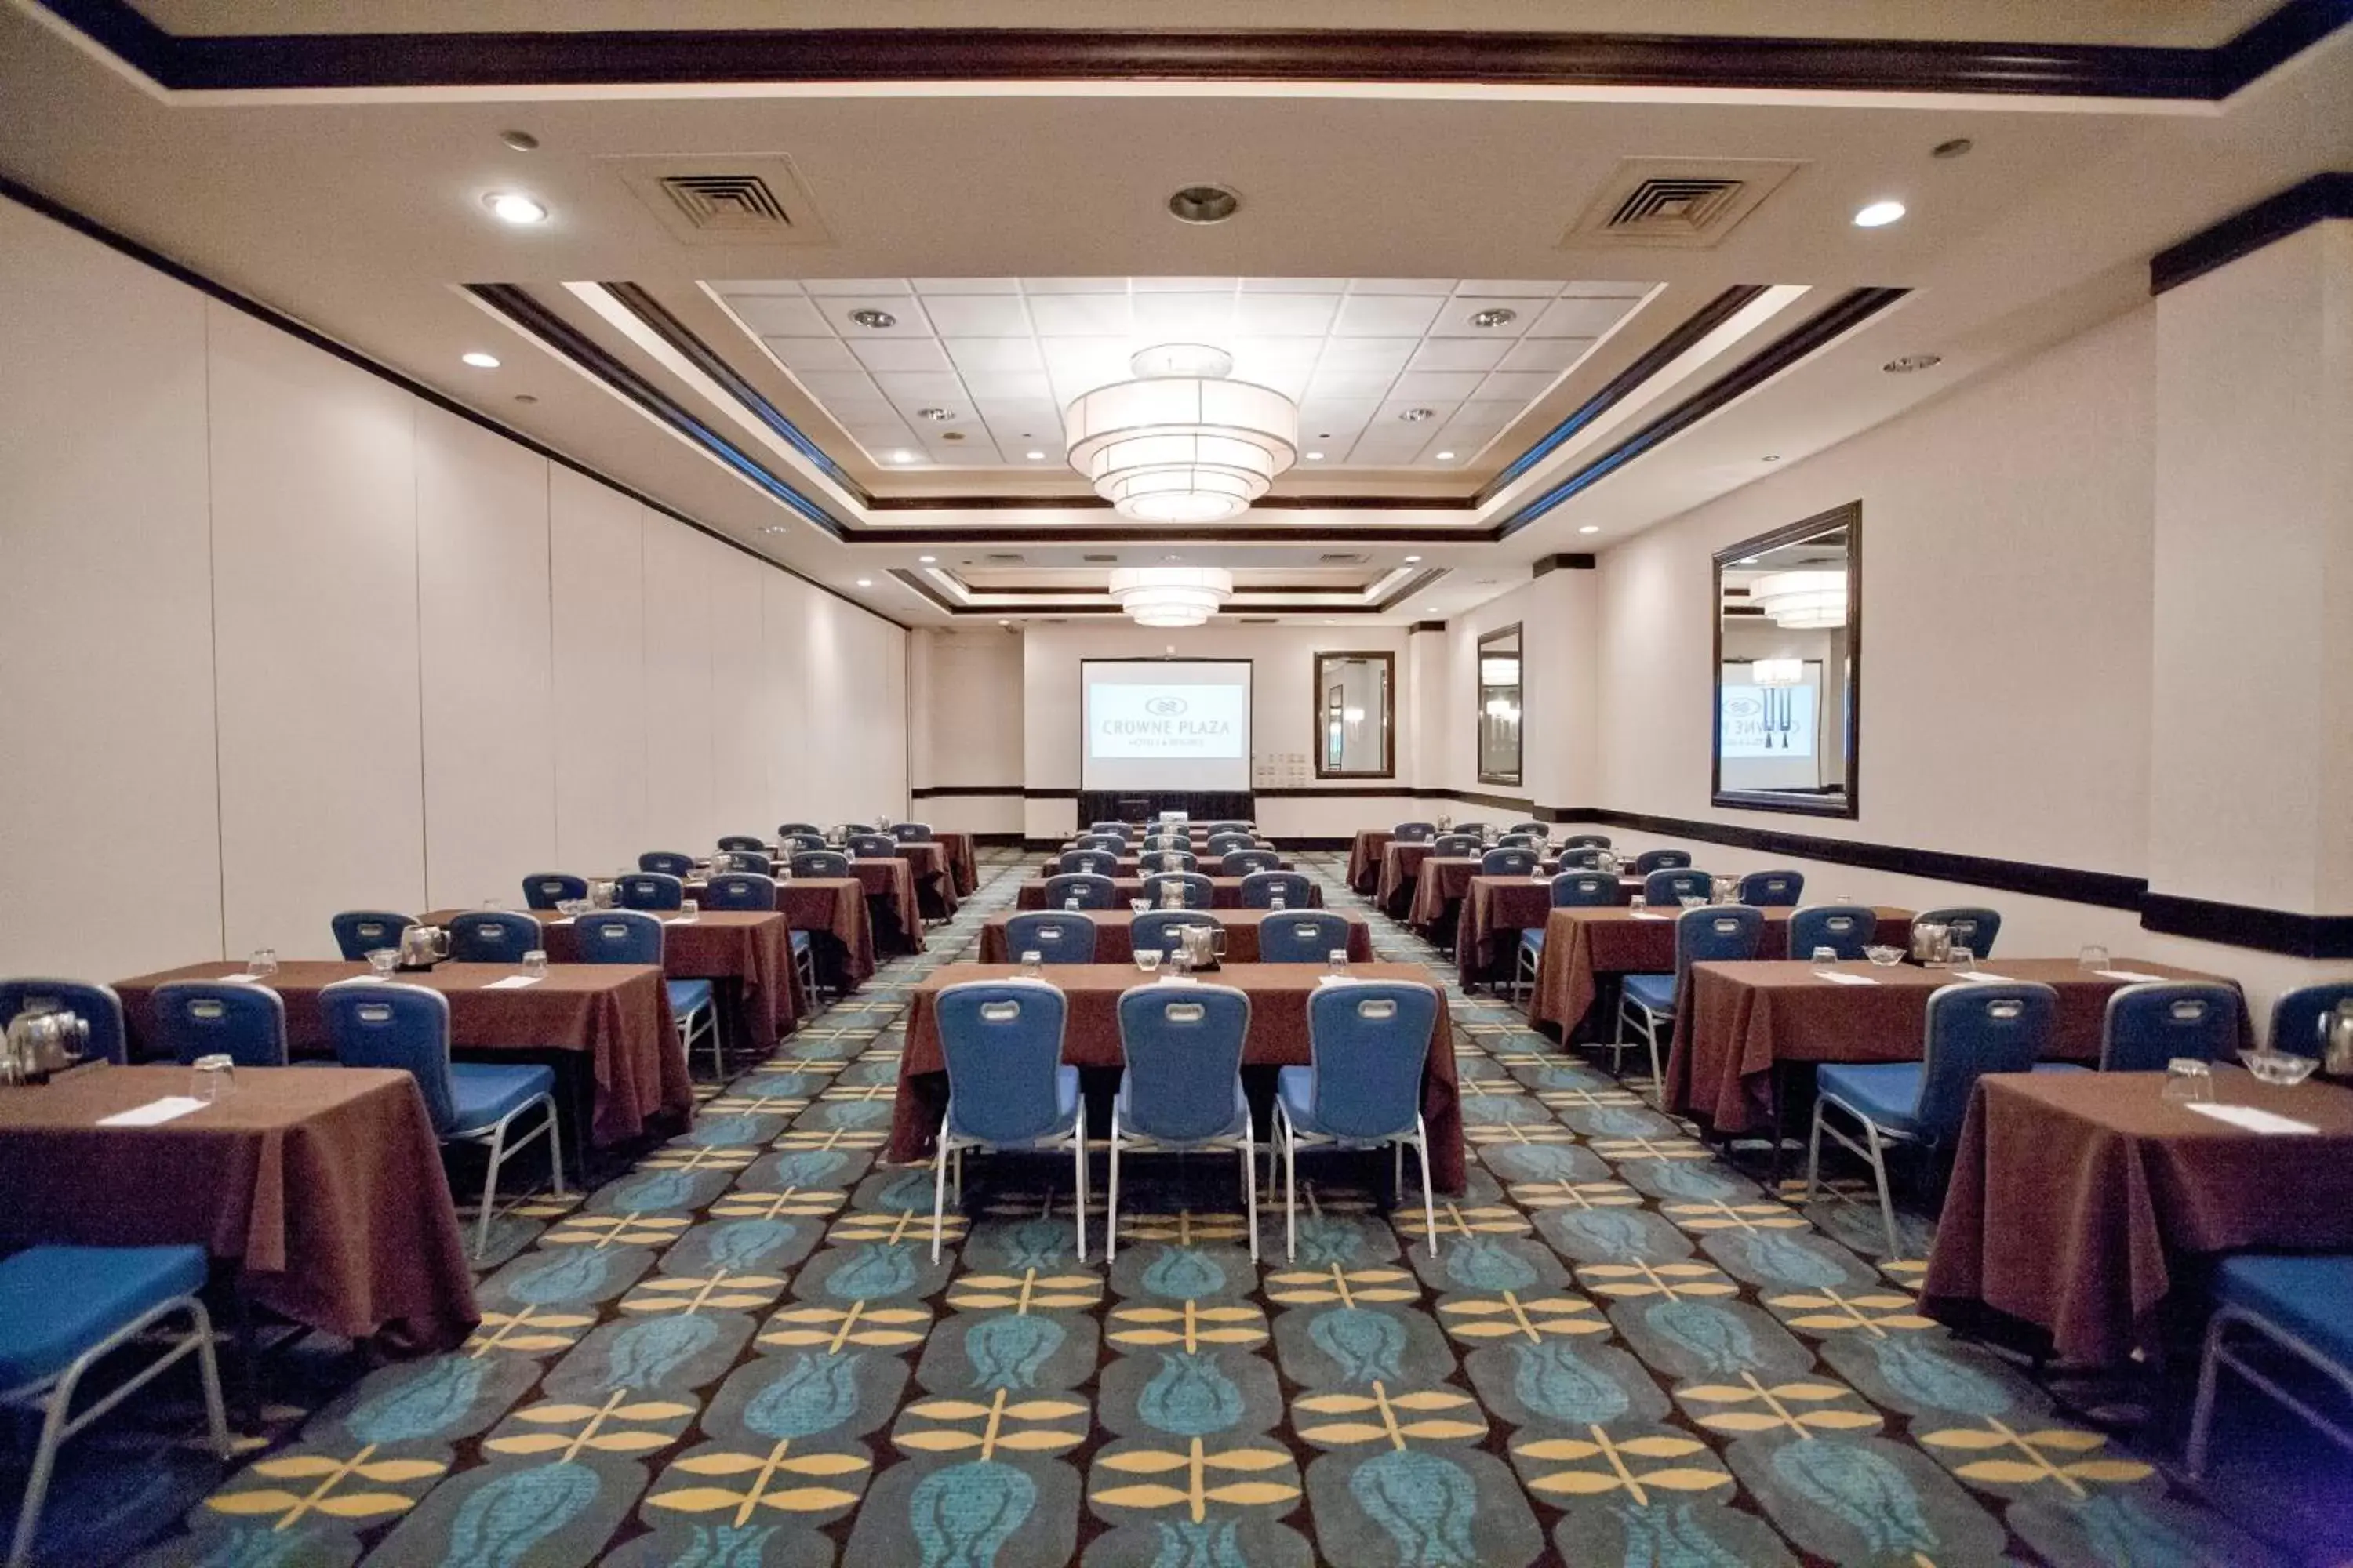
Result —
[[[1814, 1072], [1814, 1131], [1805, 1143], [1805, 1201], [1821, 1182], [1821, 1133], [1871, 1161], [1887, 1225], [1887, 1255], [1901, 1255], [1897, 1206], [1887, 1192], [1889, 1143], [1948, 1150], [1969, 1112], [1969, 1093], [1988, 1072], [2035, 1072], [2049, 1039], [2059, 992], [2033, 983], [1939, 985], [1927, 999], [1927, 1037], [1918, 1063], [1824, 1063]], [[1857, 1121], [1864, 1143], [1828, 1124], [1828, 1112]]]

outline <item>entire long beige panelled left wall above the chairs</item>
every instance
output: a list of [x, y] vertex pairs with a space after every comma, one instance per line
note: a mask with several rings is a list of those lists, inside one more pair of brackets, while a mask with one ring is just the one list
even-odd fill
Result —
[[896, 625], [5, 202], [0, 712], [14, 973], [906, 806]]

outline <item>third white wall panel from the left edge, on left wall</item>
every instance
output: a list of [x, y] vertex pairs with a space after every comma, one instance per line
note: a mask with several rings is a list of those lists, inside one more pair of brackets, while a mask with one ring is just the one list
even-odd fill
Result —
[[416, 409], [426, 903], [513, 903], [555, 865], [548, 461]]

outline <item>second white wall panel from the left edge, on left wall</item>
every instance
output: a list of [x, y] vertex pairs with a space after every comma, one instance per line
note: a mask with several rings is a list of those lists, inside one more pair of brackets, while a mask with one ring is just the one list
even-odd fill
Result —
[[426, 896], [416, 400], [207, 313], [226, 943], [322, 952]]

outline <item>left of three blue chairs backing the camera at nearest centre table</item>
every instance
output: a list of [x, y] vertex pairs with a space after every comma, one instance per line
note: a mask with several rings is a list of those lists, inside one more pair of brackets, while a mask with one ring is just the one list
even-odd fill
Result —
[[[1186, 987], [1191, 990], [1191, 987]], [[1078, 1067], [1061, 1060], [1071, 1004], [1038, 980], [967, 980], [934, 999], [948, 1063], [948, 1114], [932, 1159], [932, 1262], [948, 1215], [948, 1166], [965, 1201], [965, 1150], [1071, 1150], [1078, 1260], [1087, 1260], [1087, 1105]]]

